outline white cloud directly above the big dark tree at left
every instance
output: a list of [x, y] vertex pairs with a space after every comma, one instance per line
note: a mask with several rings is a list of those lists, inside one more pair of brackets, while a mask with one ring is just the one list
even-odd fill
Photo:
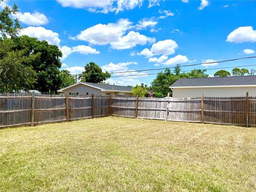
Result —
[[20, 36], [27, 35], [29, 37], [36, 37], [40, 41], [47, 41], [52, 45], [59, 45], [59, 34], [52, 30], [45, 29], [44, 27], [27, 27], [20, 31]]

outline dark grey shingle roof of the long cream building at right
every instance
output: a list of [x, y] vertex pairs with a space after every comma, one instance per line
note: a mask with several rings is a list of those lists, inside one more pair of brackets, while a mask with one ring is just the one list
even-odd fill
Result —
[[256, 86], [256, 76], [230, 76], [178, 79], [170, 87], [198, 87], [198, 86]]

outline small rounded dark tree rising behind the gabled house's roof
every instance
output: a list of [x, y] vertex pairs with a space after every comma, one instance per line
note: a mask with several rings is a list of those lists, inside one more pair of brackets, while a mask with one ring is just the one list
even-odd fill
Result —
[[81, 78], [82, 82], [102, 83], [111, 76], [107, 71], [104, 73], [94, 62], [87, 63], [84, 69], [85, 70], [79, 74], [79, 78]]

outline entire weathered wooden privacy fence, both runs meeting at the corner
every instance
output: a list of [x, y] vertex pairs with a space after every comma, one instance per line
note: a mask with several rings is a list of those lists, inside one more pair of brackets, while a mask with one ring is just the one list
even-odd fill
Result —
[[[111, 106], [111, 107], [110, 107]], [[0, 127], [102, 116], [256, 126], [256, 97], [139, 98], [0, 94]]]

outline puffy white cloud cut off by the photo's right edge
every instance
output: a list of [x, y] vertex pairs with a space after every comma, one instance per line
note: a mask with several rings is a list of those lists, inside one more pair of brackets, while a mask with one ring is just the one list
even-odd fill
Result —
[[256, 42], [256, 30], [253, 30], [251, 26], [238, 27], [232, 31], [228, 37], [227, 42], [244, 43], [244, 42]]

